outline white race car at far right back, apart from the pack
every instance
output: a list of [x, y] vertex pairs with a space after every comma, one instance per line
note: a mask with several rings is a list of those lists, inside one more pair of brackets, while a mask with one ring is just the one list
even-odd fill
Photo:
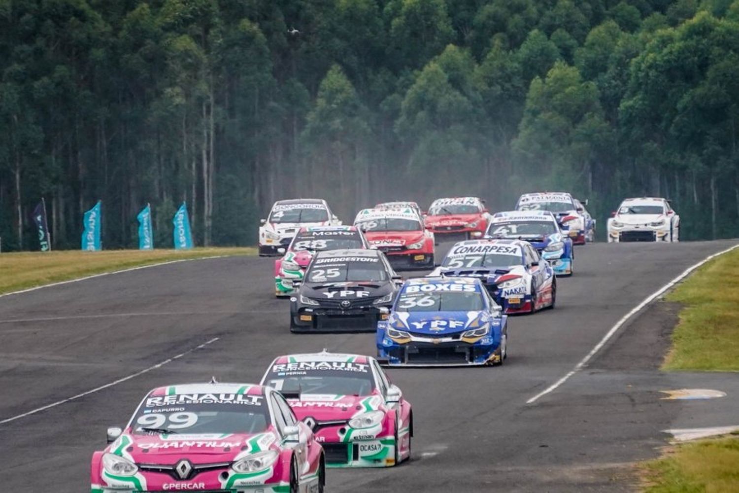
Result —
[[626, 199], [608, 220], [608, 242], [678, 242], [680, 216], [670, 201], [657, 197]]

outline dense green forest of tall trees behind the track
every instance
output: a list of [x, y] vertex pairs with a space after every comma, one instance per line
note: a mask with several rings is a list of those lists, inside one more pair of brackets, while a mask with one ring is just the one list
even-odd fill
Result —
[[249, 245], [274, 200], [656, 195], [739, 236], [739, 0], [0, 0], [0, 237]]

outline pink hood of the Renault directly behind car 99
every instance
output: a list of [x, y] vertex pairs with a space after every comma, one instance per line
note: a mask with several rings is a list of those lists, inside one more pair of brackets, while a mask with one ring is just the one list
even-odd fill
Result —
[[304, 421], [349, 421], [355, 415], [376, 409], [384, 410], [379, 395], [327, 395], [303, 394], [298, 399], [288, 399], [296, 417]]

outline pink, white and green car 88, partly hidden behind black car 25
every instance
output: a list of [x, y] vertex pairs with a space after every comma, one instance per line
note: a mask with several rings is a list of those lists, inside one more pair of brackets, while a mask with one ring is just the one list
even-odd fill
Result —
[[275, 296], [295, 293], [294, 279], [303, 279], [305, 268], [317, 251], [346, 248], [369, 248], [361, 230], [354, 226], [311, 226], [300, 228], [293, 241], [285, 249], [285, 256], [275, 260]]

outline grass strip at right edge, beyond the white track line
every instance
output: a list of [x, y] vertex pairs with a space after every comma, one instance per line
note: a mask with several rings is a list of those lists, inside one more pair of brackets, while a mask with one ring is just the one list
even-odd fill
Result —
[[684, 307], [663, 370], [739, 371], [739, 250], [707, 262], [667, 299]]

